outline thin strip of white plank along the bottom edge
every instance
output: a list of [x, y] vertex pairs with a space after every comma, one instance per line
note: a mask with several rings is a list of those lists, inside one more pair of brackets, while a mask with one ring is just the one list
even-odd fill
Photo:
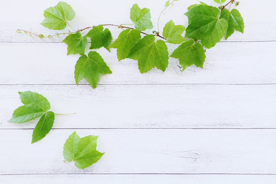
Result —
[[21, 184], [51, 182], [59, 184], [75, 184], [93, 182], [98, 184], [275, 184], [275, 175], [123, 175], [123, 174], [38, 174], [38, 175], [0, 175], [0, 180], [5, 184]]

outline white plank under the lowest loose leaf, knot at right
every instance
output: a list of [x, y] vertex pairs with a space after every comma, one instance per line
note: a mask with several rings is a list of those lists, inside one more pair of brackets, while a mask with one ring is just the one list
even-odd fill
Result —
[[84, 170], [63, 162], [63, 144], [74, 130], [51, 130], [31, 144], [32, 130], [0, 130], [2, 174], [227, 173], [276, 174], [276, 130], [79, 130], [98, 135], [105, 152]]

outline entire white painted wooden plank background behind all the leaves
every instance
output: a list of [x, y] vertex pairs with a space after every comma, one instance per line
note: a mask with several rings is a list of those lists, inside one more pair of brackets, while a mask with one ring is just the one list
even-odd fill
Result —
[[[165, 1], [66, 2], [76, 13], [71, 26], [83, 29], [131, 23], [136, 2], [150, 8], [156, 25]], [[43, 41], [16, 33], [58, 32], [40, 25], [43, 10], [58, 1], [0, 2], [0, 183], [276, 183], [274, 0], [240, 0], [244, 34], [235, 32], [207, 50], [204, 69], [181, 72], [170, 58], [165, 73], [155, 68], [140, 74], [136, 61], [118, 62], [115, 49], [98, 49], [113, 74], [96, 89], [85, 80], [75, 85], [79, 56], [66, 56], [64, 36]], [[187, 26], [183, 13], [195, 3], [175, 2], [161, 27], [170, 19]], [[121, 30], [108, 28], [116, 39]], [[176, 47], [170, 44], [169, 54]], [[76, 114], [56, 115], [50, 133], [31, 144], [38, 120], [8, 121], [22, 105], [17, 91], [25, 90], [43, 94], [55, 113]], [[105, 152], [84, 170], [63, 162], [63, 144], [73, 131], [98, 135], [97, 149]]]

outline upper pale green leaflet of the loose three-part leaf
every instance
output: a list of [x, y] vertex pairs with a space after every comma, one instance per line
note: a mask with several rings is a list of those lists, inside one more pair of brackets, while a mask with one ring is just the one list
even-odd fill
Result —
[[28, 108], [37, 109], [40, 112], [46, 112], [51, 107], [47, 98], [36, 92], [24, 91], [18, 92], [18, 94], [20, 95], [21, 102]]

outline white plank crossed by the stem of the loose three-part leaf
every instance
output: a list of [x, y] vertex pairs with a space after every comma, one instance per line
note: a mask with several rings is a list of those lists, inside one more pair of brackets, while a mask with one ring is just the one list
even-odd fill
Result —
[[26, 90], [55, 113], [76, 112], [53, 128], [276, 128], [276, 85], [1, 86], [1, 128], [35, 127], [8, 122]]

